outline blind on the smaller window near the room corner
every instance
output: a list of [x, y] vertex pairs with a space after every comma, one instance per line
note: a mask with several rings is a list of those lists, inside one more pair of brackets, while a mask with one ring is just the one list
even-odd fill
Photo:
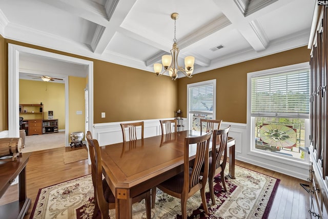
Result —
[[189, 88], [189, 111], [213, 113], [213, 84]]

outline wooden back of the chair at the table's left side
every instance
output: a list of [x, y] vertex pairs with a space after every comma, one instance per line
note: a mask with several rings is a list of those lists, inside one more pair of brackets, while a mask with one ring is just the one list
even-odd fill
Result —
[[91, 175], [94, 187], [94, 198], [96, 201], [95, 211], [100, 210], [101, 218], [108, 217], [108, 202], [104, 197], [103, 189], [103, 167], [101, 166], [101, 153], [98, 141], [92, 138], [90, 131], [86, 134], [89, 144], [89, 153], [91, 160]]

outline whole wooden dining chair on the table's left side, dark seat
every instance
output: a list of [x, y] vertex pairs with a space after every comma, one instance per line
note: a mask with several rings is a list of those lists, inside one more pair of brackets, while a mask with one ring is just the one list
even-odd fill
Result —
[[[101, 166], [101, 152], [98, 141], [92, 138], [90, 131], [86, 134], [89, 144], [90, 160], [91, 160], [91, 175], [94, 187], [94, 201], [95, 208], [92, 218], [97, 218], [100, 212], [101, 219], [108, 219], [109, 209], [115, 209], [115, 196], [108, 186], [106, 180], [103, 180], [103, 167]], [[151, 218], [151, 196], [150, 190], [139, 194], [132, 198], [132, 203], [140, 202], [145, 199], [146, 201], [146, 214], [147, 218]]]

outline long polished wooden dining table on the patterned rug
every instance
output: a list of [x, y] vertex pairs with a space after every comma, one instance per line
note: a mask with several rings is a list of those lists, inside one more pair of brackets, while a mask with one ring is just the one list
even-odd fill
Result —
[[[103, 173], [115, 195], [116, 218], [132, 218], [132, 197], [182, 172], [185, 138], [199, 135], [199, 131], [186, 130], [100, 147]], [[233, 153], [229, 155], [229, 175], [232, 177], [234, 145], [234, 138], [230, 138], [228, 147]], [[193, 160], [196, 145], [190, 147], [189, 157]]]

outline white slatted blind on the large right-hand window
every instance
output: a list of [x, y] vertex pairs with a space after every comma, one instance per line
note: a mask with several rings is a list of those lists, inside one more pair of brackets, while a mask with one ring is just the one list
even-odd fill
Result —
[[252, 116], [298, 114], [298, 117], [308, 117], [310, 69], [254, 76], [251, 92]]

